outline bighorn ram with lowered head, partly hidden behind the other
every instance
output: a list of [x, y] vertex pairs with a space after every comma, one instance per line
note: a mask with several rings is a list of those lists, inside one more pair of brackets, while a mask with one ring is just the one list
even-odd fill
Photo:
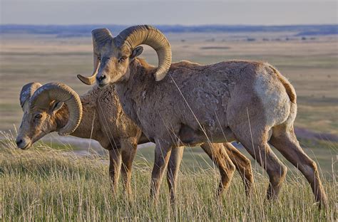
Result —
[[[120, 169], [124, 177], [127, 194], [131, 194], [131, 166], [137, 144], [149, 142], [141, 136], [141, 131], [124, 114], [113, 86], [104, 90], [93, 87], [88, 93], [78, 96], [71, 88], [62, 83], [29, 83], [20, 93], [20, 103], [24, 111], [16, 144], [21, 149], [28, 149], [31, 144], [50, 132], [71, 134], [75, 137], [96, 139], [109, 152], [109, 174], [116, 189]], [[63, 105], [64, 104], [64, 105]], [[253, 183], [250, 160], [243, 156], [230, 143], [203, 144], [210, 158], [214, 159], [221, 174], [230, 174], [235, 167], [240, 171], [245, 182], [246, 194]], [[232, 160], [224, 159], [227, 153]], [[176, 178], [183, 155], [183, 147], [175, 149], [170, 156], [168, 167], [168, 185], [173, 199]], [[121, 168], [121, 164], [123, 167]], [[230, 170], [229, 170], [230, 169]]]

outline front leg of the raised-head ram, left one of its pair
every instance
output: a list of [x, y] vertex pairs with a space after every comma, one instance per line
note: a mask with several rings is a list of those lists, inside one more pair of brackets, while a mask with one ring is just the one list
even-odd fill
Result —
[[160, 183], [163, 179], [165, 168], [168, 165], [172, 144], [168, 145], [157, 139], [155, 147], [155, 163], [151, 173], [150, 196], [158, 200]]

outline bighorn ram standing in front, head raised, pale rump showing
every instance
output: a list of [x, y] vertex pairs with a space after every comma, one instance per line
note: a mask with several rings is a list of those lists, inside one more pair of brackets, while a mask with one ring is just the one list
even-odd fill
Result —
[[[171, 63], [170, 43], [152, 26], [132, 26], [115, 38], [106, 28], [92, 34], [93, 75], [79, 78], [102, 87], [115, 84], [123, 110], [155, 140], [153, 196], [158, 196], [175, 144], [237, 140], [267, 171], [268, 199], [277, 197], [287, 172], [269, 142], [302, 171], [319, 206], [327, 206], [316, 163], [299, 146], [294, 132], [295, 89], [272, 65], [245, 60]], [[136, 58], [142, 44], [156, 51], [158, 68]], [[227, 180], [222, 187], [227, 187]]]

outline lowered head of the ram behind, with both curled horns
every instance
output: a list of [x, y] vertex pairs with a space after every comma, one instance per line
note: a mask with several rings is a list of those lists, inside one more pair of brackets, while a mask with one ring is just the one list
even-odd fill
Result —
[[[28, 149], [34, 142], [56, 130], [61, 135], [71, 134], [81, 122], [80, 97], [62, 83], [24, 85], [20, 93], [20, 104], [24, 116], [16, 137], [16, 144], [21, 149]], [[68, 122], [58, 129], [57, 117], [62, 117], [62, 114], [57, 112], [64, 104], [69, 112]]]

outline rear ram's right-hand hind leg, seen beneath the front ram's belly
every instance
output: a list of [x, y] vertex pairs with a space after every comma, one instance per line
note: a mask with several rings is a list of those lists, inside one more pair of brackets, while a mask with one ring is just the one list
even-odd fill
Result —
[[248, 159], [247, 157], [245, 157], [245, 155], [240, 153], [230, 142], [226, 142], [223, 145], [225, 147], [227, 155], [235, 164], [236, 170], [242, 177], [242, 181], [244, 182], [245, 185], [245, 194], [249, 196], [252, 190], [252, 186], [254, 184], [250, 159]]

